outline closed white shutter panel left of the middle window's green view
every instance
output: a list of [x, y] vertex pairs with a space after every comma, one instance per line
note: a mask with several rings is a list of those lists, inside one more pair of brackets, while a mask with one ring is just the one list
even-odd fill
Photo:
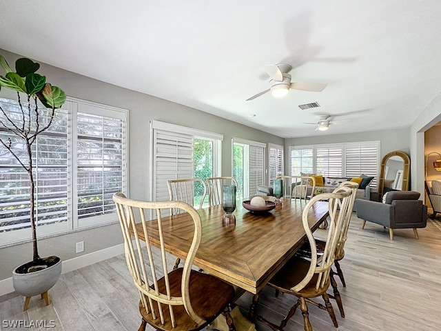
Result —
[[193, 136], [154, 129], [153, 166], [153, 201], [167, 201], [167, 180], [193, 177]]

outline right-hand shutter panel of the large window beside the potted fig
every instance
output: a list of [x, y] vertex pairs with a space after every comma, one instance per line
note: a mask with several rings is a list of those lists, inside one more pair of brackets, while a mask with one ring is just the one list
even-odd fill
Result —
[[116, 212], [112, 195], [125, 191], [125, 114], [106, 110], [112, 116], [101, 116], [94, 108], [98, 107], [83, 106], [76, 119], [79, 219]]

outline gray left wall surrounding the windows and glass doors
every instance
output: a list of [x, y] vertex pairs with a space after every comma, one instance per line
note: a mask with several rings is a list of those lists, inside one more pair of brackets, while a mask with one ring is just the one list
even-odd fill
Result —
[[[0, 54], [6, 58], [10, 66], [13, 66], [15, 60], [21, 57], [4, 50], [0, 50]], [[35, 59], [35, 61], [38, 60]], [[68, 97], [130, 110], [129, 195], [134, 199], [147, 199], [150, 185], [148, 181], [150, 166], [150, 120], [156, 119], [158, 121], [223, 134], [222, 174], [225, 176], [232, 173], [232, 137], [263, 143], [271, 142], [282, 146], [284, 144], [284, 139], [272, 134], [188, 108], [178, 103], [96, 81], [95, 79], [54, 68], [43, 63], [41, 63], [39, 72], [48, 77], [48, 81], [52, 85], [62, 88]], [[3, 89], [1, 90], [0, 97], [15, 98], [15, 94]], [[41, 256], [55, 254], [65, 261], [122, 243], [120, 232], [118, 224], [83, 230], [40, 240], [39, 250], [41, 251]], [[75, 243], [81, 240], [85, 241], [85, 252], [75, 254]], [[0, 280], [11, 277], [14, 267], [30, 261], [30, 259], [32, 259], [32, 250], [29, 243], [1, 248]]]

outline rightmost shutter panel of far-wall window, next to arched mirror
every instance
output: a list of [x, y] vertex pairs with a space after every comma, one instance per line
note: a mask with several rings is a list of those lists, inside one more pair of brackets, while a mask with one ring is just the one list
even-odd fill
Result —
[[346, 146], [346, 176], [360, 177], [361, 174], [372, 176], [371, 188], [377, 187], [378, 143], [366, 146]]

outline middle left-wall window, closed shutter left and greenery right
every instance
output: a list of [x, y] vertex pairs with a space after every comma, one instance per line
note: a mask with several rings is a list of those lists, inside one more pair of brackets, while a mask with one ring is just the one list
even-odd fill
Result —
[[[220, 174], [222, 134], [152, 121], [152, 190], [153, 201], [167, 201], [167, 180], [198, 177], [206, 179]], [[195, 185], [194, 205], [198, 206], [203, 188]], [[208, 197], [206, 197], [208, 203]]]

